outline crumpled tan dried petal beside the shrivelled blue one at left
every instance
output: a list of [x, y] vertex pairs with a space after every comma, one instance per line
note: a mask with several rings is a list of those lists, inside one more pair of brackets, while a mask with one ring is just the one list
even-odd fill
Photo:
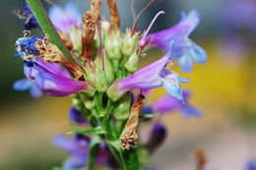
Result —
[[49, 41], [47, 35], [43, 39], [38, 39], [35, 43], [35, 48], [39, 51], [39, 58], [47, 63], [58, 63], [68, 69], [74, 75], [76, 80], [83, 80], [83, 70], [71, 63], [62, 53], [62, 51]]

